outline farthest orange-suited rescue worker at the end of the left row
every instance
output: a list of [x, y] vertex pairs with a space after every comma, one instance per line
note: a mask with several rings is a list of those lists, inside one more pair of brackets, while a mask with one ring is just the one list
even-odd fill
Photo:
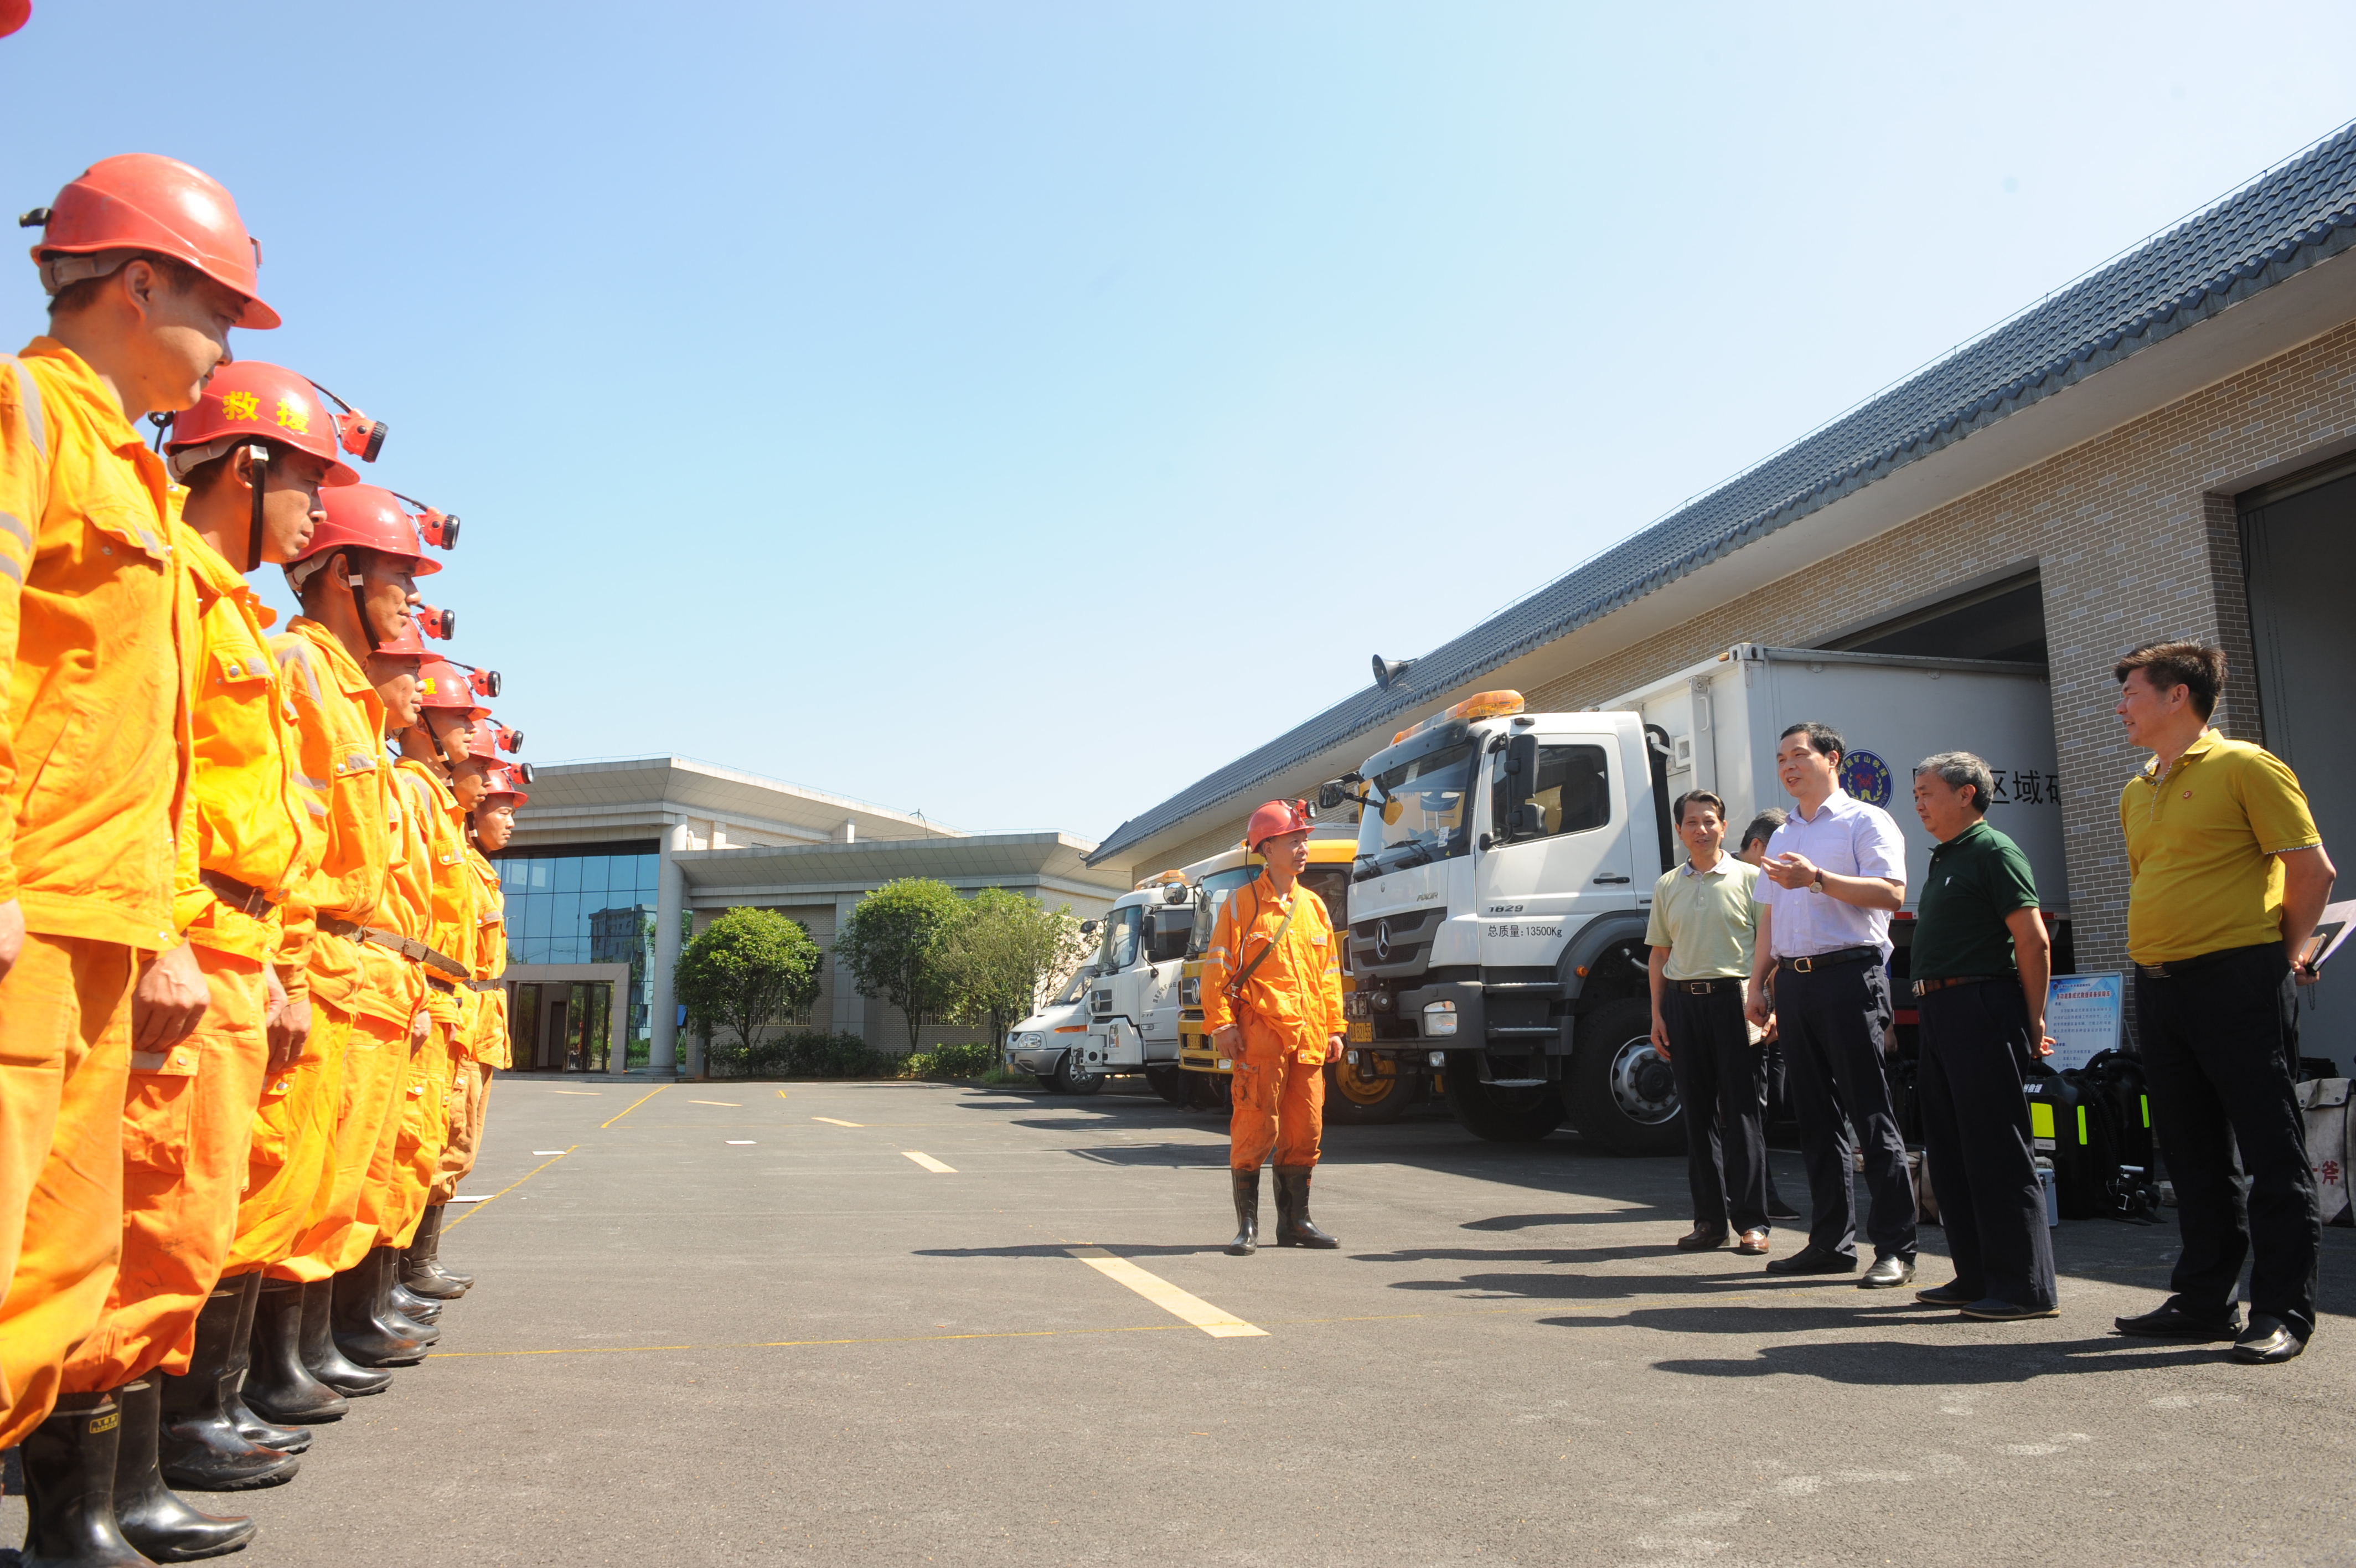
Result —
[[[492, 689], [497, 679], [492, 679]], [[476, 681], [476, 691], [483, 681]], [[499, 974], [507, 969], [507, 903], [499, 894], [499, 872], [490, 856], [507, 849], [516, 832], [516, 806], [530, 799], [523, 792], [521, 764], [502, 762], [499, 745], [521, 745], [521, 736], [488, 722], [483, 714], [466, 738], [466, 766], [459, 773], [476, 776], [474, 809], [466, 813], [466, 870], [474, 875], [474, 983], [459, 993], [466, 1014], [466, 1049], [459, 1063], [457, 1092], [450, 1111], [450, 1141], [443, 1146], [441, 1165], [434, 1172], [434, 1191], [426, 1193], [426, 1212], [417, 1233], [401, 1252], [401, 1283], [429, 1302], [455, 1302], [474, 1285], [471, 1273], [452, 1273], [441, 1261], [441, 1228], [448, 1203], [457, 1195], [459, 1181], [474, 1170], [474, 1158], [483, 1148], [483, 1118], [490, 1106], [490, 1075], [509, 1066], [507, 1049], [507, 986]]]

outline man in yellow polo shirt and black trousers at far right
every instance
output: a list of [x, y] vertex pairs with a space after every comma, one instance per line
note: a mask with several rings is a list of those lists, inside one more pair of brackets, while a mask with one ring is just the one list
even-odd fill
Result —
[[[2224, 686], [2219, 648], [2146, 644], [2113, 674], [2127, 740], [2151, 747], [2118, 797], [2118, 825], [2137, 1035], [2184, 1236], [2175, 1294], [2118, 1327], [2233, 1339], [2236, 1361], [2290, 1361], [2316, 1330], [2323, 1247], [2292, 1092], [2292, 955], [2323, 915], [2332, 863], [2290, 769], [2208, 726]], [[2314, 971], [2297, 981], [2314, 983]], [[2252, 1252], [2243, 1330], [2233, 1287]]]

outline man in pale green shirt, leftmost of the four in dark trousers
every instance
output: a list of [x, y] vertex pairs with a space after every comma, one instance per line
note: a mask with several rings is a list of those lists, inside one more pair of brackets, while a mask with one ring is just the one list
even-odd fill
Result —
[[[1708, 790], [1675, 804], [1685, 865], [1652, 887], [1652, 1047], [1677, 1075], [1685, 1162], [1694, 1188], [1687, 1252], [1727, 1245], [1767, 1252], [1767, 1134], [1762, 1052], [1743, 1019], [1743, 981], [1758, 936], [1758, 868], [1727, 854], [1727, 804]], [[1715, 1115], [1713, 1115], [1715, 1111]]]

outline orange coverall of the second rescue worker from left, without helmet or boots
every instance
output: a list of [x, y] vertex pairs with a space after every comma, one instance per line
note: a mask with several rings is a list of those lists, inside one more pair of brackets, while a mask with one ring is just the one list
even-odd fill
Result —
[[[99, 1330], [66, 1363], [68, 1394], [184, 1372], [196, 1316], [221, 1278], [247, 1184], [254, 1106], [269, 1068], [269, 964], [280, 908], [318, 861], [325, 806], [294, 771], [294, 712], [269, 653], [276, 615], [186, 526], [174, 545], [196, 585], [188, 665], [196, 740], [191, 830], [181, 835], [177, 922], [212, 1004], [170, 1052], [134, 1054], [123, 1103], [123, 1266]], [[313, 818], [313, 811], [320, 818]], [[245, 884], [236, 898], [205, 875]]]

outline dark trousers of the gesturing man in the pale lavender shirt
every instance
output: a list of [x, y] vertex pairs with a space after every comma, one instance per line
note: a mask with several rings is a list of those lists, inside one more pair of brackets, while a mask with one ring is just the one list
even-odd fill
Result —
[[[1776, 964], [1774, 1012], [1783, 1073], [1807, 1160], [1807, 1245], [1857, 1254], [1857, 1144], [1866, 1151], [1866, 1236], [1878, 1257], [1915, 1254], [1915, 1195], [1906, 1139], [1890, 1106], [1882, 1042], [1890, 1040], [1890, 971], [1871, 960], [1800, 974]], [[1847, 1120], [1842, 1120], [1847, 1118]]]

